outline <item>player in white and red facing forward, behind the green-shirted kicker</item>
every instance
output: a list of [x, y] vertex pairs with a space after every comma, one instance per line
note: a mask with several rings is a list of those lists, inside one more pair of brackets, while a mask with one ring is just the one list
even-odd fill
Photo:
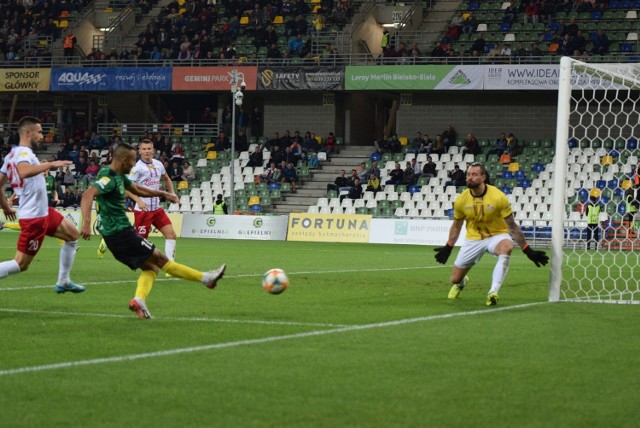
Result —
[[[147, 139], [141, 140], [138, 144], [138, 153], [140, 154], [140, 160], [131, 170], [129, 179], [140, 187], [153, 190], [160, 190], [160, 180], [162, 180], [168, 192], [174, 194], [173, 183], [167, 175], [164, 165], [162, 165], [162, 162], [159, 160], [153, 158], [155, 153], [153, 142]], [[176, 232], [173, 230], [173, 225], [167, 213], [160, 206], [160, 198], [157, 196], [150, 198], [138, 197], [138, 195], [132, 193], [127, 193], [127, 197], [136, 203], [133, 211], [135, 216], [133, 227], [136, 233], [143, 238], [147, 238], [151, 232], [151, 226], [155, 226], [156, 229], [164, 235], [164, 253], [169, 260], [174, 260], [176, 252]], [[98, 246], [98, 257], [102, 258], [105, 252], [106, 247], [104, 243], [101, 242]]]

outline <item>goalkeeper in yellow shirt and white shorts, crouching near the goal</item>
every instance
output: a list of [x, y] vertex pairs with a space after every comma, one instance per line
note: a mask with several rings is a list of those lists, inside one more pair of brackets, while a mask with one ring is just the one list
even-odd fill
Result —
[[509, 270], [509, 258], [513, 250], [511, 237], [536, 266], [546, 265], [549, 257], [543, 251], [529, 247], [513, 218], [509, 200], [500, 189], [488, 184], [488, 178], [487, 170], [481, 163], [472, 163], [467, 168], [467, 190], [453, 203], [453, 224], [449, 230], [449, 240], [444, 247], [438, 247], [435, 251], [438, 263], [445, 264], [460, 236], [462, 225], [466, 222], [467, 235], [453, 264], [453, 286], [449, 291], [449, 299], [458, 298], [469, 280], [467, 272], [487, 252], [498, 257], [487, 294], [487, 306], [493, 306], [498, 303], [498, 293]]

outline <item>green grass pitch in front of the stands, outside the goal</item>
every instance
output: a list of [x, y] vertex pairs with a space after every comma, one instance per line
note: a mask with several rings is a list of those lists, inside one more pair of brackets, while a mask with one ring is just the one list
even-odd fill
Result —
[[[17, 234], [0, 233], [2, 259]], [[162, 240], [155, 240], [163, 248]], [[179, 239], [177, 260], [228, 265], [215, 290], [137, 274], [82, 241], [56, 295], [59, 246], [0, 280], [0, 426], [637, 426], [637, 305], [547, 303], [518, 250], [497, 307], [494, 259], [447, 299], [451, 262], [420, 246]], [[266, 294], [261, 275], [290, 286]]]

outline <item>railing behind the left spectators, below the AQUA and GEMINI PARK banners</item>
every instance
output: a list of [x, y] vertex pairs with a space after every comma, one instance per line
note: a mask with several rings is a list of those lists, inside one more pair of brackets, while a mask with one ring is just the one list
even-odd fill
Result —
[[108, 136], [116, 130], [122, 136], [159, 132], [165, 136], [211, 137], [218, 135], [217, 123], [99, 123], [98, 133]]

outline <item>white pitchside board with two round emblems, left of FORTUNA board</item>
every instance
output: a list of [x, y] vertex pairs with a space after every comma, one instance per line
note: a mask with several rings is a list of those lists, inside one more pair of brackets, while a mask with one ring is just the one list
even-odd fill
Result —
[[284, 241], [287, 216], [184, 214], [185, 238]]

